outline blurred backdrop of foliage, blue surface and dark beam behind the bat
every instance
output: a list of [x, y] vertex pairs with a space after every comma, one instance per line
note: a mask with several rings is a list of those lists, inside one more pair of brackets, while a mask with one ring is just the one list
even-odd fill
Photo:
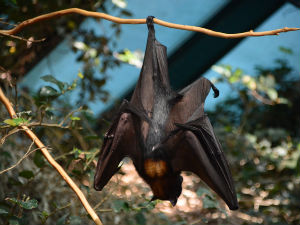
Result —
[[[159, 19], [225, 33], [300, 27], [298, 0], [0, 1], [0, 29], [35, 16], [82, 8]], [[155, 25], [180, 90], [201, 76], [220, 90], [206, 100], [229, 161], [240, 209], [184, 173], [176, 207], [149, 202], [130, 159], [101, 192], [93, 189], [105, 131], [130, 99], [147, 26], [79, 15], [0, 36], [0, 85], [20, 119], [0, 105], [0, 224], [93, 224], [77, 197], [18, 125], [26, 123], [75, 180], [104, 224], [300, 224], [300, 32], [220, 39]], [[30, 42], [40, 40], [43, 42]]]

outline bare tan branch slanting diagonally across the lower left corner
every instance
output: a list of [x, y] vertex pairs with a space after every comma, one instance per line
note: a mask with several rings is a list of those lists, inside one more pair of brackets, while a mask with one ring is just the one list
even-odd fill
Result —
[[[16, 113], [9, 102], [9, 100], [4, 95], [2, 89], [0, 88], [0, 101], [5, 105], [9, 115], [11, 118], [16, 118]], [[67, 184], [72, 188], [75, 194], [78, 196], [79, 200], [81, 201], [82, 205], [86, 209], [86, 211], [90, 214], [91, 218], [94, 220], [95, 224], [102, 225], [101, 220], [97, 216], [96, 212], [90, 206], [89, 202], [86, 200], [84, 194], [79, 189], [79, 187], [75, 184], [75, 182], [69, 177], [66, 171], [53, 159], [51, 154], [49, 153], [47, 147], [40, 141], [40, 139], [25, 125], [20, 126], [22, 129], [25, 130], [27, 136], [34, 141], [41, 152], [43, 153], [44, 157], [47, 161], [57, 170], [57, 172], [62, 176], [62, 178], [67, 182]]]

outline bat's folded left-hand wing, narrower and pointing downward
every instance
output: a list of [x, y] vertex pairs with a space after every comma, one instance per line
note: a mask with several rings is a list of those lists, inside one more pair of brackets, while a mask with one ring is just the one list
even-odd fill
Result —
[[121, 160], [129, 156], [133, 161], [140, 159], [141, 155], [136, 133], [138, 117], [128, 110], [128, 103], [123, 102], [113, 124], [105, 135], [100, 151], [94, 188], [97, 191], [103, 189], [110, 178], [118, 171]]

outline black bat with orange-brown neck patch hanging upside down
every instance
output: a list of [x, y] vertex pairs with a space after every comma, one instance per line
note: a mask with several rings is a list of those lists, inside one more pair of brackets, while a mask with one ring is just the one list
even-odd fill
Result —
[[132, 159], [138, 174], [149, 184], [154, 199], [173, 206], [182, 191], [181, 171], [198, 175], [231, 210], [238, 209], [233, 179], [204, 113], [212, 88], [200, 78], [179, 93], [169, 84], [166, 47], [155, 39], [153, 17], [147, 18], [148, 39], [138, 83], [130, 102], [124, 100], [97, 163], [94, 188], [103, 189], [118, 171], [121, 160]]

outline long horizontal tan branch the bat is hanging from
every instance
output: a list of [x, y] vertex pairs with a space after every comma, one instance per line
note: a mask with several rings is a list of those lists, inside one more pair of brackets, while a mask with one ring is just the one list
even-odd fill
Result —
[[[10, 30], [0, 30], [0, 33], [14, 35], [14, 34], [19, 33], [21, 30], [23, 30], [27, 26], [33, 25], [33, 24], [41, 22], [41, 21], [53, 19], [55, 17], [68, 15], [68, 14], [80, 14], [82, 16], [87, 16], [87, 17], [102, 18], [105, 20], [112, 21], [114, 23], [119, 23], [119, 24], [145, 24], [146, 23], [146, 19], [122, 19], [119, 17], [105, 14], [105, 13], [91, 12], [91, 11], [78, 9], [78, 8], [70, 8], [70, 9], [64, 9], [64, 10], [55, 11], [52, 13], [43, 14], [43, 15], [34, 17], [32, 19], [25, 20]], [[153, 19], [153, 22], [156, 24], [159, 24], [161, 26], [165, 26], [165, 27], [169, 27], [169, 28], [195, 31], [195, 32], [200, 32], [203, 34], [207, 34], [207, 35], [219, 37], [219, 38], [243, 38], [243, 37], [249, 37], [249, 36], [257, 37], [257, 36], [266, 36], [266, 35], [278, 35], [279, 33], [282, 33], [282, 32], [296, 31], [296, 30], [300, 29], [300, 28], [284, 27], [284, 28], [277, 29], [277, 30], [270, 30], [270, 31], [263, 31], [263, 32], [254, 32], [253, 30], [250, 30], [250, 31], [243, 32], [243, 33], [227, 34], [227, 33], [209, 30], [209, 29], [206, 29], [203, 27], [169, 23], [169, 22], [166, 22], [166, 21], [163, 21], [160, 19], [156, 19], [156, 18]]]

